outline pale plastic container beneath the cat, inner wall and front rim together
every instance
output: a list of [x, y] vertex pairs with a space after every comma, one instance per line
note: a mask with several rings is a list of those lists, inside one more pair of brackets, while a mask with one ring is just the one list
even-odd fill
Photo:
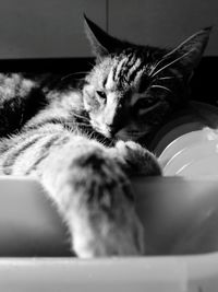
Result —
[[218, 183], [142, 177], [133, 187], [150, 255], [80, 260], [40, 185], [0, 178], [0, 291], [217, 292]]

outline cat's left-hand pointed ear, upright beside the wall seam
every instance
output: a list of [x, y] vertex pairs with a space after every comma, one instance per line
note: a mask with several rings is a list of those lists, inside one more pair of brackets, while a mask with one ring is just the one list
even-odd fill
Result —
[[96, 57], [105, 57], [122, 47], [122, 42], [107, 34], [98, 25], [88, 20], [85, 14], [84, 22], [86, 35]]

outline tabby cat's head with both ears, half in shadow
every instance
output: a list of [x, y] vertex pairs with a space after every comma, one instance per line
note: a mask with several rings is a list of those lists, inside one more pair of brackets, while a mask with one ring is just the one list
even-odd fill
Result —
[[138, 140], [185, 103], [189, 81], [209, 38], [210, 27], [174, 49], [119, 40], [85, 17], [96, 65], [83, 87], [93, 127], [104, 136]]

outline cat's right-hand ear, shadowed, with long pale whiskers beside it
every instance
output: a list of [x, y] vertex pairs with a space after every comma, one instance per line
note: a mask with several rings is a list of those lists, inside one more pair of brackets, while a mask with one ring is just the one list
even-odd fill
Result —
[[196, 34], [190, 36], [177, 48], [170, 51], [168, 55], [175, 54], [179, 56], [180, 62], [192, 73], [193, 69], [198, 65], [207, 46], [211, 27], [203, 28]]

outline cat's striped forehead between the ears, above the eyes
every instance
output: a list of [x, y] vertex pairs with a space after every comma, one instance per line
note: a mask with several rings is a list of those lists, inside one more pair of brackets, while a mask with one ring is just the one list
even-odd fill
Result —
[[149, 75], [157, 58], [150, 48], [129, 48], [101, 59], [88, 81], [108, 91], [125, 91], [137, 86], [142, 75]]

